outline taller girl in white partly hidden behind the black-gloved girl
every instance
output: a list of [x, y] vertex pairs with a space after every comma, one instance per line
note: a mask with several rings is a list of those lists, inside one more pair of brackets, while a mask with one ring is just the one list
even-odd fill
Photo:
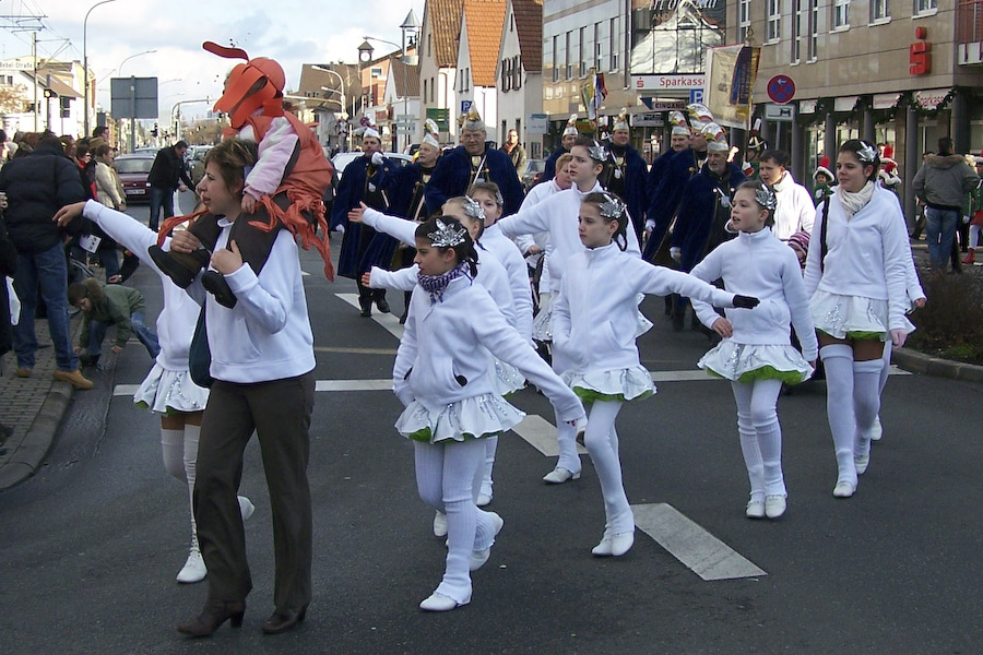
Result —
[[[562, 284], [564, 274], [568, 271], [570, 259], [583, 252], [583, 243], [578, 237], [578, 215], [580, 212], [580, 202], [584, 195], [592, 192], [602, 191], [601, 184], [597, 183], [597, 176], [604, 169], [604, 162], [607, 158], [607, 151], [592, 139], [584, 136], [579, 138], [573, 147], [570, 150], [572, 158], [568, 166], [573, 179], [573, 186], [566, 191], [554, 193], [546, 200], [532, 205], [523, 206], [518, 214], [506, 216], [495, 225], [488, 228], [488, 231], [500, 230], [507, 237], [516, 238], [520, 235], [535, 235], [540, 233], [549, 233], [549, 250], [546, 252], [549, 262], [549, 285], [555, 296], [559, 293]], [[631, 221], [630, 216], [626, 216], [626, 221]], [[641, 249], [638, 245], [635, 229], [627, 230], [627, 252], [641, 258]], [[541, 287], [542, 293], [542, 287]], [[553, 305], [542, 301], [540, 303], [540, 313], [536, 314], [533, 334], [537, 334], [536, 338], [543, 341], [552, 341], [553, 335]], [[638, 327], [632, 334], [637, 336], [644, 332], [641, 320], [643, 317], [636, 310]], [[546, 325], [545, 330], [537, 326]], [[648, 323], [651, 326], [651, 323]], [[646, 327], [648, 329], [648, 327]], [[540, 336], [542, 335], [542, 336]], [[569, 368], [570, 362], [564, 357], [562, 353], [554, 350], [553, 370], [562, 373]], [[553, 471], [547, 473], [543, 479], [549, 484], [562, 484], [567, 480], [580, 478], [580, 455], [577, 454], [577, 443], [575, 436], [570, 429], [557, 420], [557, 442], [559, 445], [559, 457]]]

